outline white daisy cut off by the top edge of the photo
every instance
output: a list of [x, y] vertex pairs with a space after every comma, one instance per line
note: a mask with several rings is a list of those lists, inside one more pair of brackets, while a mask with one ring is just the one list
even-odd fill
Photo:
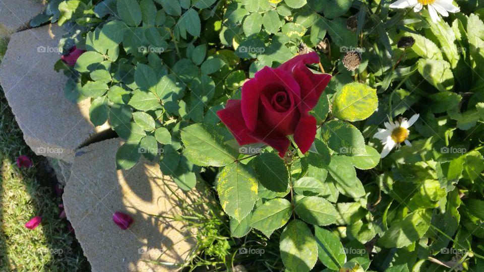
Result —
[[414, 12], [419, 12], [424, 5], [429, 6], [429, 13], [434, 23], [440, 22], [437, 13], [447, 17], [450, 13], [459, 12], [460, 9], [452, 4], [452, 0], [398, 0], [390, 5], [392, 9], [413, 8]]

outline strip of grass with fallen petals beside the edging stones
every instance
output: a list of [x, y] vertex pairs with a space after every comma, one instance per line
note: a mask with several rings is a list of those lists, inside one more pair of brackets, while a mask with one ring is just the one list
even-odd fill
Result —
[[[34, 167], [19, 169], [16, 158], [29, 156]], [[68, 221], [59, 219], [55, 178], [45, 158], [35, 156], [0, 88], [0, 271], [89, 271]], [[42, 216], [34, 230], [24, 228]]]

